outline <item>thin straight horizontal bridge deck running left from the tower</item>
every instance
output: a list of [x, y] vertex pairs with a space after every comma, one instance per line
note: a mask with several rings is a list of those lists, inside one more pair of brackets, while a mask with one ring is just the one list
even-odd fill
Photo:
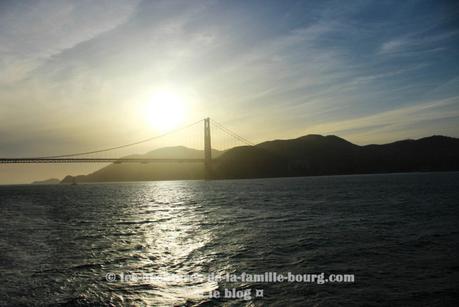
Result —
[[146, 159], [146, 158], [0, 158], [7, 163], [150, 163], [150, 162], [202, 162], [202, 159]]

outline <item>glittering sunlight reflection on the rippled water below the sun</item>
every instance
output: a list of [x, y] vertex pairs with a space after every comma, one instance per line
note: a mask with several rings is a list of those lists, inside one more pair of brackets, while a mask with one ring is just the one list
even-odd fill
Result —
[[209, 259], [204, 254], [195, 259], [193, 253], [212, 240], [211, 232], [200, 227], [206, 216], [199, 210], [195, 195], [177, 187], [177, 182], [159, 182], [145, 186], [136, 198], [138, 205], [128, 208], [127, 217], [120, 223], [139, 225], [143, 241], [133, 254], [138, 261], [123, 272], [138, 279], [114, 286], [142, 289], [144, 295], [135, 291], [133, 299], [148, 305], [175, 305], [205, 298], [218, 285], [202, 278], [186, 279], [202, 274], [202, 265]]

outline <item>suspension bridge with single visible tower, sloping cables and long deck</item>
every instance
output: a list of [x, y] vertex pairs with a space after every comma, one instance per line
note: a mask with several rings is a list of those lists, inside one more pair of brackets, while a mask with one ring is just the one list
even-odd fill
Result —
[[[202, 158], [111, 158], [111, 157], [83, 157], [87, 155], [101, 154], [106, 152], [112, 152], [114, 150], [132, 147], [139, 144], [151, 142], [153, 140], [167, 137], [178, 131], [196, 126], [198, 124], [204, 124], [204, 155]], [[210, 120], [209, 117], [201, 119], [192, 124], [174, 129], [161, 135], [156, 135], [144, 140], [137, 142], [119, 145], [115, 147], [108, 147], [98, 150], [76, 152], [62, 155], [49, 155], [41, 157], [21, 157], [21, 158], [0, 158], [0, 164], [15, 164], [15, 163], [154, 163], [154, 162], [179, 162], [179, 163], [203, 163], [206, 178], [211, 178], [212, 163], [216, 160], [212, 157], [212, 139], [211, 139], [211, 125], [214, 129], [218, 129], [226, 135], [232, 137], [243, 145], [253, 146], [254, 144], [246, 138], [236, 134], [232, 130], [226, 128], [222, 124], [215, 120]]]

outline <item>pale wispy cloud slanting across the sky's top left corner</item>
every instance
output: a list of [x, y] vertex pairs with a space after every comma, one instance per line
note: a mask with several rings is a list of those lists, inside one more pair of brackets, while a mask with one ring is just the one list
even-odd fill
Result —
[[62, 50], [125, 22], [137, 1], [11, 2], [0, 12], [1, 84], [27, 73]]

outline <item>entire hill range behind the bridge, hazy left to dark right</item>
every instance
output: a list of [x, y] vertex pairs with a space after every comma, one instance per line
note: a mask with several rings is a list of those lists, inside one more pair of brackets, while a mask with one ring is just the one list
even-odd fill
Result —
[[[186, 147], [154, 150], [137, 158], [202, 158]], [[255, 146], [214, 151], [213, 176], [258, 178], [334, 174], [459, 170], [459, 139], [431, 136], [384, 145], [359, 146], [334, 135], [306, 135]], [[110, 164], [77, 182], [202, 179], [202, 163]], [[67, 176], [62, 182], [71, 183]]]

